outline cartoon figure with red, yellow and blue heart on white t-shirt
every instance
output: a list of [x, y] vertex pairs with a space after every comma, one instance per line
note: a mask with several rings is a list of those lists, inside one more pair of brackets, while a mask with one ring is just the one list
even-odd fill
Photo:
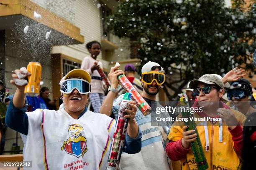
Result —
[[69, 138], [64, 141], [61, 150], [65, 150], [66, 153], [74, 155], [79, 158], [87, 152], [87, 140], [80, 133], [84, 128], [79, 124], [69, 125]]

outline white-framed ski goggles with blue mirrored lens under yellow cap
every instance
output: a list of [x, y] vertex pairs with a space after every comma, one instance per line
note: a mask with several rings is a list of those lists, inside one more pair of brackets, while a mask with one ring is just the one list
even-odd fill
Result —
[[64, 94], [70, 94], [74, 89], [77, 89], [80, 94], [85, 95], [91, 92], [91, 85], [86, 80], [78, 78], [67, 79], [61, 83], [60, 91]]

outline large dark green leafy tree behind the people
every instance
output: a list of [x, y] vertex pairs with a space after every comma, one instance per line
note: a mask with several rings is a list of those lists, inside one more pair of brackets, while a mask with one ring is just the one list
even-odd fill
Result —
[[242, 63], [254, 71], [255, 5], [244, 10], [243, 4], [243, 0], [233, 1], [233, 7], [226, 7], [224, 0], [124, 0], [105, 24], [114, 35], [132, 40], [141, 66], [148, 61], [164, 66], [163, 88], [173, 100], [190, 80], [203, 74], [223, 75]]

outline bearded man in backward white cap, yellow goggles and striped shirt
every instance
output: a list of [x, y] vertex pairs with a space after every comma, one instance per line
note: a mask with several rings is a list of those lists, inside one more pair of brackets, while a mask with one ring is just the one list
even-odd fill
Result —
[[[108, 116], [113, 113], [115, 118], [118, 117], [120, 102], [123, 99], [123, 95], [120, 95], [114, 101], [118, 86], [117, 76], [123, 74], [122, 70], [116, 70], [118, 67], [112, 67], [108, 74], [111, 88], [109, 88], [108, 95], [100, 108], [100, 113]], [[166, 122], [167, 125], [163, 126], [151, 124], [151, 117], [156, 115], [153, 114], [156, 108], [162, 107], [156, 101], [156, 95], [159, 93], [164, 81], [164, 68], [158, 63], [149, 61], [141, 68], [141, 84], [143, 87], [141, 96], [151, 106], [152, 111], [148, 115], [143, 115], [137, 108], [135, 120], [142, 129], [143, 134], [141, 152], [134, 155], [122, 153], [119, 165], [120, 170], [169, 170], [172, 166], [171, 163], [169, 164], [164, 150], [165, 144], [168, 143], [167, 134], [172, 124], [171, 122]], [[166, 112], [161, 113], [161, 115], [167, 117]]]

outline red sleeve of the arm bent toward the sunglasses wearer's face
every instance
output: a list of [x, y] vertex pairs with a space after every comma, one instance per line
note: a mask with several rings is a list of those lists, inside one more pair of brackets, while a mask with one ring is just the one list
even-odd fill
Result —
[[233, 130], [228, 128], [229, 132], [232, 135], [232, 140], [234, 142], [234, 149], [236, 153], [241, 156], [243, 149], [243, 128], [241, 125], [236, 126]]

